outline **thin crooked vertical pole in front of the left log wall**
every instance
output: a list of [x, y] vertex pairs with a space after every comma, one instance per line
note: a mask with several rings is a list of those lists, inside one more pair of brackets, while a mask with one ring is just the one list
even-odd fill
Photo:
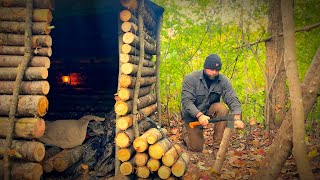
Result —
[[10, 179], [10, 161], [9, 161], [9, 155], [8, 150], [11, 147], [12, 143], [12, 136], [13, 136], [13, 130], [14, 130], [14, 120], [17, 113], [17, 107], [18, 107], [18, 99], [19, 99], [19, 92], [20, 92], [20, 84], [22, 82], [22, 78], [24, 76], [24, 73], [27, 69], [27, 65], [32, 57], [32, 49], [31, 49], [31, 38], [32, 38], [32, 9], [33, 9], [33, 0], [27, 0], [26, 1], [26, 26], [25, 26], [25, 33], [24, 33], [24, 46], [25, 46], [25, 52], [24, 52], [24, 59], [22, 60], [21, 64], [18, 67], [17, 77], [14, 85], [13, 90], [13, 99], [10, 105], [10, 113], [9, 113], [9, 130], [6, 137], [6, 145], [5, 145], [5, 155], [4, 155], [4, 162], [3, 162], [3, 172], [4, 172], [4, 180]]

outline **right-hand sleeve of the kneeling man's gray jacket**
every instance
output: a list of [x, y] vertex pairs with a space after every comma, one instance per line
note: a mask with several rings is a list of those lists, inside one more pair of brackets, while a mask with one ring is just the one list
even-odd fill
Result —
[[222, 99], [232, 114], [241, 114], [241, 103], [228, 78], [223, 84]]

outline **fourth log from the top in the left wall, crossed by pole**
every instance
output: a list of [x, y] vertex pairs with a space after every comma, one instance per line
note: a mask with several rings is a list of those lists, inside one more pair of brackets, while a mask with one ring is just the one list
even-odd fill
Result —
[[[0, 45], [6, 46], [24, 46], [24, 35], [0, 33]], [[50, 35], [34, 35], [31, 37], [32, 47], [51, 47], [52, 38]]]

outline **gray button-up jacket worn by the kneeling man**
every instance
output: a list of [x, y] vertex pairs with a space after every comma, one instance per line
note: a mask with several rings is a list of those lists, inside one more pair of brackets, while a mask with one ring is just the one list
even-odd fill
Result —
[[220, 97], [229, 107], [230, 113], [241, 114], [241, 103], [226, 76], [219, 74], [218, 80], [208, 88], [203, 70], [186, 75], [181, 93], [182, 119], [196, 121], [196, 114], [200, 111], [207, 114], [210, 105], [220, 102]]

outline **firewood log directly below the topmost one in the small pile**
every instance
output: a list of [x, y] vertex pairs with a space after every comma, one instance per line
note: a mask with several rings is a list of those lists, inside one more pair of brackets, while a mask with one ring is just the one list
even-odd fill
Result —
[[167, 138], [158, 141], [149, 147], [149, 156], [154, 159], [161, 159], [162, 156], [171, 148], [171, 143]]

